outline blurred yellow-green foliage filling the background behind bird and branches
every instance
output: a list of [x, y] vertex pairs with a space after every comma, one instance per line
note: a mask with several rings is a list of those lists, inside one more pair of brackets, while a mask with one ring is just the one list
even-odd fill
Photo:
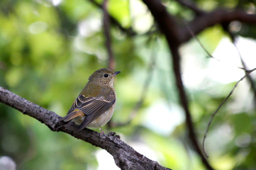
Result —
[[[253, 0], [195, 2], [206, 11], [236, 5], [244, 9], [254, 7], [255, 10]], [[164, 0], [164, 4], [180, 19], [195, 17], [192, 10], [174, 0]], [[138, 152], [162, 166], [174, 170], [203, 170], [199, 157], [189, 145], [184, 115], [178, 106], [168, 46], [164, 37], [154, 31], [150, 12], [139, 0], [109, 0], [108, 11], [120, 25], [131, 26], [137, 31], [137, 35], [129, 37], [116, 26], [110, 30], [115, 70], [122, 71], [114, 85], [118, 100], [112, 122], [127, 121], [140, 98], [146, 77], [152, 76], [152, 80], [143, 105], [132, 122], [105, 132], [115, 131], [134, 148], [143, 145], [145, 150]], [[87, 0], [1, 0], [0, 86], [64, 116], [88, 76], [106, 67], [101, 20], [101, 9]], [[239, 35], [256, 37], [251, 25], [236, 23], [233, 26]], [[202, 31], [198, 38], [212, 53], [224, 36], [222, 27], [216, 25]], [[186, 50], [181, 53], [195, 56], [201, 63], [200, 73], [203, 73], [209, 63], [204, 51], [194, 40], [184, 46]], [[148, 75], [151, 55], [156, 58], [156, 63]], [[184, 62], [186, 59], [182, 58]], [[233, 85], [233, 82], [223, 84], [207, 77], [198, 88], [186, 87], [199, 141], [211, 113]], [[244, 103], [247, 101], [239, 101], [238, 109], [234, 111], [232, 103], [236, 100], [239, 101], [238, 93], [219, 110], [206, 139], [209, 162], [218, 170], [256, 167], [254, 107], [246, 108]], [[151, 112], [153, 114], [148, 116]], [[150, 120], [150, 117], [154, 118]], [[162, 124], [172, 129], [166, 129]], [[103, 162], [97, 157], [98, 150], [67, 134], [51, 132], [35, 119], [0, 104], [0, 156], [11, 157], [18, 170], [95, 170]], [[113, 160], [111, 164], [114, 164]]]

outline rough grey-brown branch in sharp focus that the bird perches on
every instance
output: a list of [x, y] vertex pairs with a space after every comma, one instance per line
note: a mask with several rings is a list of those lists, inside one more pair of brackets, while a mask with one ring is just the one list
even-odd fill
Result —
[[93, 146], [106, 150], [113, 156], [116, 166], [121, 170], [170, 170], [137, 153], [133, 148], [121, 141], [119, 136], [114, 135], [115, 133], [113, 132], [107, 135], [100, 135], [87, 128], [78, 132], [77, 126], [73, 123], [68, 123], [66, 126], [57, 129], [55, 127], [61, 118], [60, 116], [2, 87], [0, 87], [0, 102], [25, 115], [35, 118], [45, 124], [51, 131], [67, 133], [77, 139], [88, 142]]

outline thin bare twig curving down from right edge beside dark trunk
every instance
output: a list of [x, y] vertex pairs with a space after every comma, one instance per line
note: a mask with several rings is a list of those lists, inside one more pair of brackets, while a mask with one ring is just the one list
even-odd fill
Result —
[[246, 71], [246, 74], [239, 80], [235, 83], [234, 87], [232, 88], [232, 90], [230, 91], [230, 93], [226, 96], [226, 98], [220, 103], [220, 105], [218, 106], [218, 108], [215, 110], [215, 112], [212, 113], [211, 115], [211, 118], [210, 118], [210, 121], [207, 125], [207, 129], [204, 133], [204, 136], [203, 136], [203, 141], [202, 141], [202, 150], [203, 150], [203, 153], [205, 154], [205, 156], [208, 158], [209, 156], [207, 155], [205, 149], [204, 149], [204, 143], [205, 143], [205, 139], [206, 139], [206, 135], [207, 135], [207, 132], [209, 131], [209, 127], [210, 127], [210, 124], [212, 122], [212, 119], [213, 117], [216, 115], [216, 113], [218, 112], [218, 110], [220, 109], [220, 107], [225, 103], [225, 101], [231, 96], [231, 94], [233, 93], [234, 89], [236, 88], [237, 84], [242, 81], [247, 75], [249, 75], [251, 72], [253, 72], [254, 70], [256, 70], [256, 68], [253, 68], [252, 70], [248, 70]]

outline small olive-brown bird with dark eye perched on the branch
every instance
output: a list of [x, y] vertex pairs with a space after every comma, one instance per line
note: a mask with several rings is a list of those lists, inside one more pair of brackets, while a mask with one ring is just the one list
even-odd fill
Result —
[[65, 124], [73, 121], [79, 125], [78, 131], [85, 127], [100, 128], [112, 117], [116, 104], [113, 88], [114, 76], [120, 71], [112, 72], [101, 68], [91, 74], [88, 82], [73, 102], [67, 115], [60, 121]]

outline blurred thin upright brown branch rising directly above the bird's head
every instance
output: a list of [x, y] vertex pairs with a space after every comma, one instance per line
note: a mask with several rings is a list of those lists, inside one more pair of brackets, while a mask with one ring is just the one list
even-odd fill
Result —
[[105, 45], [106, 45], [106, 50], [108, 54], [108, 68], [110, 70], [114, 70], [115, 63], [114, 63], [114, 57], [113, 57], [112, 48], [111, 48], [111, 36], [109, 31], [109, 15], [107, 12], [107, 0], [103, 1], [102, 10], [103, 10], [103, 30], [105, 34]]

